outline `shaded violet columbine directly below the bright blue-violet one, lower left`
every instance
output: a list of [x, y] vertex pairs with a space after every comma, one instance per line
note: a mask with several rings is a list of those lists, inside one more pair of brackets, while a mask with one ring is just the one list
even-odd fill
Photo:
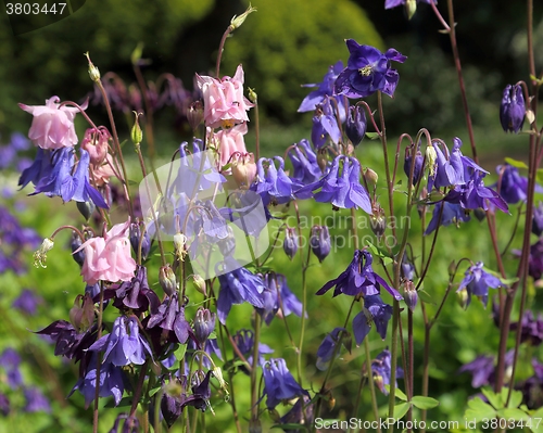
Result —
[[[86, 371], [83, 371], [83, 377], [79, 378], [68, 394], [68, 397], [77, 390], [85, 397], [85, 407], [88, 408], [96, 396], [97, 384], [97, 355], [92, 354]], [[115, 367], [111, 362], [106, 362], [100, 367], [99, 397], [113, 397], [115, 406], [121, 403], [125, 385], [123, 382], [123, 369]]]

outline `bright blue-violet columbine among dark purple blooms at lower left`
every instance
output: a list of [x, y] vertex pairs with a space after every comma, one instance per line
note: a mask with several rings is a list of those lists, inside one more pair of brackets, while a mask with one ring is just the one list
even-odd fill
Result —
[[113, 364], [116, 367], [129, 364], [142, 365], [146, 353], [152, 358], [151, 347], [139, 334], [138, 321], [135, 317], [128, 319], [117, 317], [113, 322], [111, 333], [102, 336], [89, 347], [90, 352], [104, 351], [103, 364]]

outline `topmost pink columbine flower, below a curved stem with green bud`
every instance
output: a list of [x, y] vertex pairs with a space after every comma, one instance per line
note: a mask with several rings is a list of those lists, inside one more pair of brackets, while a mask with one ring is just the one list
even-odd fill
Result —
[[197, 84], [204, 100], [204, 123], [211, 128], [231, 127], [249, 122], [247, 111], [254, 106], [243, 97], [243, 67], [236, 69], [232, 78], [222, 80], [197, 74]]

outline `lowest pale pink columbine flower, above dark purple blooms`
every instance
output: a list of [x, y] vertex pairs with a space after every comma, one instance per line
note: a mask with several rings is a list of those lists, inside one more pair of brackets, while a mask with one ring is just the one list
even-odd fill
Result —
[[75, 252], [85, 249], [83, 279], [89, 285], [103, 281], [129, 281], [134, 278], [136, 262], [130, 256], [128, 230], [130, 220], [117, 224], [103, 238], [89, 239]]

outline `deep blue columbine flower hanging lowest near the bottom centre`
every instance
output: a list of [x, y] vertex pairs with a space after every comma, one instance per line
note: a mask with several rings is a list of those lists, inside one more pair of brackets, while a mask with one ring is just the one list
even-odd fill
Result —
[[264, 395], [267, 396], [266, 406], [270, 410], [275, 409], [282, 400], [308, 395], [307, 391], [303, 390], [294, 380], [282, 358], [272, 358], [263, 366], [262, 372]]

